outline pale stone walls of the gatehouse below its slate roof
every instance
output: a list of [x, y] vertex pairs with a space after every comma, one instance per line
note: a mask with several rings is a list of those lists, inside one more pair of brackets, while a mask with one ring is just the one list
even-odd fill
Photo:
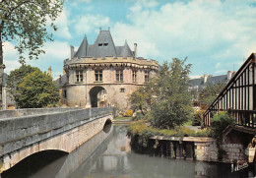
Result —
[[[129, 108], [128, 96], [139, 86], [145, 85], [145, 73], [154, 76], [158, 62], [139, 58], [81, 58], [65, 61], [65, 71], [69, 83], [65, 86], [69, 106], [91, 106], [90, 90], [102, 87], [106, 90], [107, 105], [117, 105], [122, 110]], [[95, 71], [102, 70], [102, 81], [96, 81]], [[123, 81], [116, 81], [116, 70], [123, 70]], [[76, 71], [83, 71], [83, 82], [77, 82]], [[136, 82], [132, 81], [133, 71], [137, 71]], [[64, 89], [64, 90], [65, 90]], [[123, 91], [120, 91], [124, 89]]]

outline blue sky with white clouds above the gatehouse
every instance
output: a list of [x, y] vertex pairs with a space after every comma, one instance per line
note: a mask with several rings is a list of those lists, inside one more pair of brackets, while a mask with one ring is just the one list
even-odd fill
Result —
[[[70, 45], [78, 49], [85, 35], [95, 43], [99, 28], [110, 28], [115, 45], [127, 40], [133, 50], [137, 43], [139, 57], [160, 64], [187, 57], [191, 78], [237, 71], [256, 52], [256, 0], [65, 0], [55, 24], [45, 54], [27, 60], [42, 71], [51, 66], [55, 79], [63, 74]], [[12, 41], [3, 50], [9, 74], [21, 66], [19, 53]]]

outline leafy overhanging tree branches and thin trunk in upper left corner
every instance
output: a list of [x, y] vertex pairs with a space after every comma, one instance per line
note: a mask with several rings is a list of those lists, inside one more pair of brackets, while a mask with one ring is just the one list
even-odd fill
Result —
[[29, 58], [38, 58], [46, 40], [52, 40], [47, 32], [47, 24], [57, 30], [52, 22], [63, 9], [63, 0], [1, 0], [0, 2], [0, 107], [2, 105], [2, 84], [4, 41], [16, 41], [15, 48], [20, 53], [20, 62], [25, 63], [24, 53], [29, 50]]

